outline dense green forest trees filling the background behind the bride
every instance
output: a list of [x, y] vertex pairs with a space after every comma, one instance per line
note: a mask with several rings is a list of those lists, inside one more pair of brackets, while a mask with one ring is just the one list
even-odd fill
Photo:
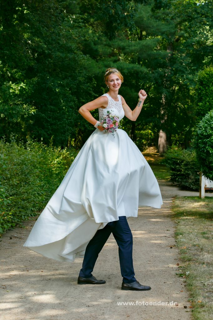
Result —
[[190, 146], [210, 110], [198, 108], [197, 79], [213, 61], [212, 1], [3, 0], [0, 9], [5, 141], [13, 133], [81, 148], [94, 127], [78, 109], [104, 93], [105, 69], [116, 67], [130, 108], [148, 92], [137, 121], [122, 123], [141, 151], [161, 143], [159, 132], [167, 145]]

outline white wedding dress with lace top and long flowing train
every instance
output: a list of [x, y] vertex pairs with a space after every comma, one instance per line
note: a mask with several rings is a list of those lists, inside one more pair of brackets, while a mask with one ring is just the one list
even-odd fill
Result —
[[[107, 108], [124, 117], [107, 93]], [[113, 135], [96, 129], [85, 142], [60, 186], [34, 224], [24, 246], [45, 257], [74, 261], [83, 257], [96, 231], [119, 216], [137, 217], [138, 206], [160, 208], [158, 182], [141, 151], [124, 130]]]

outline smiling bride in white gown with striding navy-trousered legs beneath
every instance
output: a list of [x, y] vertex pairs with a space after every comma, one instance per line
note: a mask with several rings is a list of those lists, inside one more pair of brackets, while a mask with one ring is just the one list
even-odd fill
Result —
[[[24, 246], [45, 257], [74, 261], [82, 257], [78, 284], [105, 284], [92, 275], [95, 262], [112, 233], [117, 244], [122, 290], [150, 290], [134, 277], [133, 237], [127, 217], [138, 206], [160, 208], [158, 182], [140, 150], [122, 129], [111, 133], [101, 120], [108, 113], [118, 122], [136, 121], [147, 93], [140, 90], [132, 111], [118, 90], [123, 76], [116, 68], [104, 75], [108, 92], [80, 107], [79, 113], [95, 131], [85, 142], [60, 186], [37, 219]], [[98, 108], [99, 120], [90, 111]]]

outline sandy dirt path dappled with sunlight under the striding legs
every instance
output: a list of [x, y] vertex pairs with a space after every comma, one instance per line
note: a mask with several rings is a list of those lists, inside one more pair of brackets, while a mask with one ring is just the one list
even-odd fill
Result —
[[[161, 210], [139, 208], [138, 218], [130, 218], [133, 232], [133, 261], [137, 280], [150, 285], [145, 292], [122, 291], [118, 247], [110, 236], [99, 255], [93, 274], [105, 279], [103, 285], [78, 285], [82, 259], [74, 263], [47, 259], [23, 247], [34, 224], [7, 232], [0, 242], [2, 320], [78, 320], [78, 319], [162, 319], [189, 320], [188, 293], [182, 278], [176, 276], [178, 251], [175, 224], [171, 221], [171, 201], [177, 187], [161, 185]], [[138, 302], [136, 302], [138, 301]], [[177, 302], [178, 306], [151, 305]], [[117, 302], [135, 305], [119, 306]], [[184, 308], [187, 306], [188, 308]]]

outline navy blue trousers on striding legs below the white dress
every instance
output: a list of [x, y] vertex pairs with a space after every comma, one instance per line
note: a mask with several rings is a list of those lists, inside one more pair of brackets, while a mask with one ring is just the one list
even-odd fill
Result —
[[117, 221], [109, 222], [103, 229], [95, 233], [95, 236], [87, 244], [79, 276], [84, 278], [92, 276], [98, 254], [101, 252], [111, 232], [118, 244], [123, 282], [132, 283], [136, 281], [133, 268], [133, 236], [125, 216], [119, 217]]

